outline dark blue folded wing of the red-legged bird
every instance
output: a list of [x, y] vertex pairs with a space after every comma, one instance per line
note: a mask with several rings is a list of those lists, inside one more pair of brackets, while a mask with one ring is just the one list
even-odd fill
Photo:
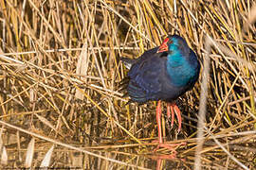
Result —
[[161, 91], [159, 77], [164, 70], [166, 59], [159, 58], [157, 48], [146, 51], [128, 73], [130, 82], [127, 91], [131, 99], [138, 103], [158, 100], [157, 93]]

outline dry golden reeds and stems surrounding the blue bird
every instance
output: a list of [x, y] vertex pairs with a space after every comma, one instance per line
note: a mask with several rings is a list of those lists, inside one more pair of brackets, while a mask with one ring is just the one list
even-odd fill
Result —
[[125, 105], [119, 57], [176, 33], [210, 72], [178, 100], [166, 136], [187, 145], [162, 168], [255, 168], [255, 20], [248, 0], [0, 0], [1, 165], [155, 169], [155, 103]]

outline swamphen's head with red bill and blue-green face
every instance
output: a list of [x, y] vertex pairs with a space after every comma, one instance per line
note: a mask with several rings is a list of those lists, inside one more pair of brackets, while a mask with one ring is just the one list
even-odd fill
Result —
[[162, 44], [159, 46], [156, 53], [162, 53], [162, 52], [174, 53], [178, 51], [184, 51], [187, 49], [189, 49], [187, 42], [180, 36], [173, 35], [173, 36], [168, 36], [164, 40], [164, 42], [162, 42]]

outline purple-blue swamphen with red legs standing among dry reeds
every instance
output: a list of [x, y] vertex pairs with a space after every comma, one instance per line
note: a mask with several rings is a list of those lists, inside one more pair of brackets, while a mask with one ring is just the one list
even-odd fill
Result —
[[168, 36], [158, 47], [146, 51], [138, 59], [121, 59], [130, 64], [127, 92], [132, 101], [139, 104], [149, 100], [158, 101], [156, 107], [156, 122], [158, 128], [159, 147], [173, 150], [169, 144], [164, 144], [161, 130], [161, 100], [167, 102], [167, 117], [171, 117], [174, 126], [174, 112], [178, 120], [178, 131], [181, 129], [180, 110], [174, 100], [183, 93], [192, 90], [198, 79], [200, 63], [180, 36]]

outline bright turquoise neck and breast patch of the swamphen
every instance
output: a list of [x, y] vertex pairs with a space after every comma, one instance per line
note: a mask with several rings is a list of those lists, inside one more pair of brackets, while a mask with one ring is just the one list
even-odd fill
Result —
[[191, 64], [178, 50], [167, 56], [167, 73], [175, 86], [185, 86], [194, 76]]

